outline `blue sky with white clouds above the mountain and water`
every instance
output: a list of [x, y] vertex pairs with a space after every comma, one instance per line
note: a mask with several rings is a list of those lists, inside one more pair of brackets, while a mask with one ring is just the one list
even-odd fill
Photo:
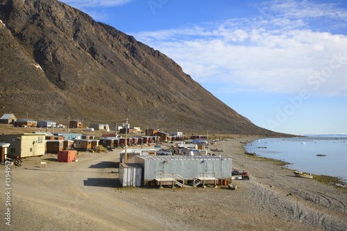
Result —
[[347, 133], [347, 1], [63, 0], [262, 128]]

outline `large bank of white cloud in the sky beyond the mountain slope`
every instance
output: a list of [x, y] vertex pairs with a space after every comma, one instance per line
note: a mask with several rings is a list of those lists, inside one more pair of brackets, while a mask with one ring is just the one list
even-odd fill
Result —
[[[223, 24], [144, 32], [135, 37], [169, 55], [200, 83], [218, 81], [260, 92], [305, 88], [312, 94], [347, 94], [346, 35], [313, 31], [306, 20], [339, 17], [344, 21], [346, 14], [307, 1], [274, 1], [266, 7], [262, 5], [262, 10], [287, 10], [288, 16], [230, 19]], [[321, 78], [312, 77], [316, 73]]]

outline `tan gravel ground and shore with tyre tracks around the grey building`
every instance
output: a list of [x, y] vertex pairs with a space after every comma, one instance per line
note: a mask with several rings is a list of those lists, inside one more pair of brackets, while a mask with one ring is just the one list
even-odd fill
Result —
[[[237, 190], [119, 187], [120, 148], [80, 152], [71, 163], [53, 154], [26, 158], [11, 166], [10, 206], [8, 195], [0, 197], [1, 230], [347, 230], [346, 191], [245, 155], [240, 142], [254, 139], [210, 146], [248, 171], [250, 180], [232, 181]], [[6, 193], [6, 167], [0, 171]]]

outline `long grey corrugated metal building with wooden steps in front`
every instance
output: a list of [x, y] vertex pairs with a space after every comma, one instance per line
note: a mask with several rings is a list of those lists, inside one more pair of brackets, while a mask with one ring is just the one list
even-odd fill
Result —
[[137, 155], [135, 163], [142, 166], [143, 185], [217, 185], [230, 180], [231, 158], [211, 155]]

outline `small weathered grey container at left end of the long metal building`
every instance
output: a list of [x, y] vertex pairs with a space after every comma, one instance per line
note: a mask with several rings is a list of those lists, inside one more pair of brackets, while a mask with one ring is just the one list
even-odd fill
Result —
[[119, 164], [119, 182], [122, 187], [140, 187], [142, 168], [138, 164]]

